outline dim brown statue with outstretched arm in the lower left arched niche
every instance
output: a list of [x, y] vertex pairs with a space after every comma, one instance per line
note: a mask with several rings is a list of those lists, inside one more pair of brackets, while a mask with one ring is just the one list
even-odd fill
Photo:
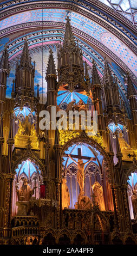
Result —
[[[27, 216], [29, 212], [29, 200], [31, 196], [34, 194], [34, 190], [37, 187], [34, 187], [33, 189], [28, 185], [27, 179], [23, 180], [22, 187], [18, 190], [17, 189], [17, 197], [18, 201], [16, 202], [16, 205], [18, 206], [17, 215], [19, 216]], [[31, 212], [31, 215], [32, 212]]]

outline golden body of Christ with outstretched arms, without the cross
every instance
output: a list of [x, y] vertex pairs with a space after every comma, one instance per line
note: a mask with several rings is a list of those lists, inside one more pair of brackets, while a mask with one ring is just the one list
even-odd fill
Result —
[[89, 163], [93, 157], [89, 159], [86, 163], [83, 163], [82, 159], [78, 159], [77, 162], [71, 157], [71, 155], [68, 155], [73, 162], [77, 165], [77, 182], [80, 186], [80, 194], [84, 195], [84, 166], [85, 164]]

